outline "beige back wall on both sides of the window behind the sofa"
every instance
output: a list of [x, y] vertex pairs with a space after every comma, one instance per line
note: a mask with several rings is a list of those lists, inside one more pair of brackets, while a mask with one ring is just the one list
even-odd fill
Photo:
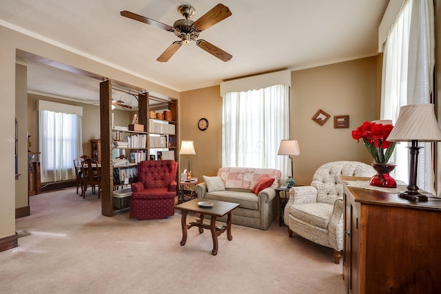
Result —
[[[351, 130], [365, 120], [377, 118], [376, 56], [292, 72], [290, 94], [291, 138], [298, 140], [300, 156], [294, 156], [294, 178], [308, 185], [314, 171], [325, 162], [360, 160], [371, 162], [369, 153], [351, 137]], [[320, 126], [311, 120], [318, 109], [331, 115]], [[334, 129], [334, 116], [349, 115], [347, 129]], [[209, 127], [201, 132], [199, 118]], [[193, 175], [213, 176], [222, 164], [222, 97], [219, 87], [181, 93], [181, 140], [194, 140]], [[278, 143], [276, 143], [278, 144]], [[187, 158], [180, 158], [182, 171]]]

